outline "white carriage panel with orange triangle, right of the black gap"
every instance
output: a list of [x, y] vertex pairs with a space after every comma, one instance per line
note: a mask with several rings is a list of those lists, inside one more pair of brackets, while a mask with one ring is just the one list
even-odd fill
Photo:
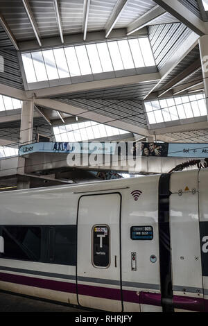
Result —
[[198, 170], [173, 173], [171, 193], [173, 302], [176, 309], [198, 311], [203, 309]]

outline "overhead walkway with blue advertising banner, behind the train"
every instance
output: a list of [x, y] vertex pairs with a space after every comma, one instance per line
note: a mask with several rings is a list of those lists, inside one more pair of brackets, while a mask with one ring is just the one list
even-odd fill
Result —
[[19, 189], [18, 184], [27, 188], [31, 182], [43, 187], [121, 178], [122, 173], [168, 173], [190, 160], [199, 160], [204, 167], [206, 157], [208, 144], [34, 143], [21, 146], [19, 156], [0, 159], [0, 189]]

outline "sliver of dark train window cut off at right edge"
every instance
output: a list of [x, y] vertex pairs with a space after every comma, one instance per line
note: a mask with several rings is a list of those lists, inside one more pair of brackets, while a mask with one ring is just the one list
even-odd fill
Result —
[[208, 222], [200, 222], [202, 275], [208, 276]]

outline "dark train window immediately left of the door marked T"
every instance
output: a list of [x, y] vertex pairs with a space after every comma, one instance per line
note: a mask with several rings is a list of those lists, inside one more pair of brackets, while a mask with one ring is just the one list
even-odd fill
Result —
[[53, 264], [76, 266], [76, 225], [54, 225], [49, 232], [50, 261]]

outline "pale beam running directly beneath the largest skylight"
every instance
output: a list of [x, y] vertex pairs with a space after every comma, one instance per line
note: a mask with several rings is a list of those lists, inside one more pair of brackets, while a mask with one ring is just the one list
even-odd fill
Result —
[[44, 89], [34, 89], [33, 91], [27, 91], [26, 95], [28, 96], [28, 98], [33, 97], [33, 94], [35, 94], [37, 98], [60, 96], [62, 94], [71, 94], [74, 92], [86, 92], [92, 89], [102, 89], [106, 87], [132, 85], [132, 84], [146, 83], [151, 81], [157, 82], [158, 80], [160, 80], [160, 78], [161, 75], [158, 72], [153, 74], [141, 74], [141, 75], [120, 77], [120, 78], [96, 80], [87, 83], [62, 85], [56, 87], [48, 87]]

